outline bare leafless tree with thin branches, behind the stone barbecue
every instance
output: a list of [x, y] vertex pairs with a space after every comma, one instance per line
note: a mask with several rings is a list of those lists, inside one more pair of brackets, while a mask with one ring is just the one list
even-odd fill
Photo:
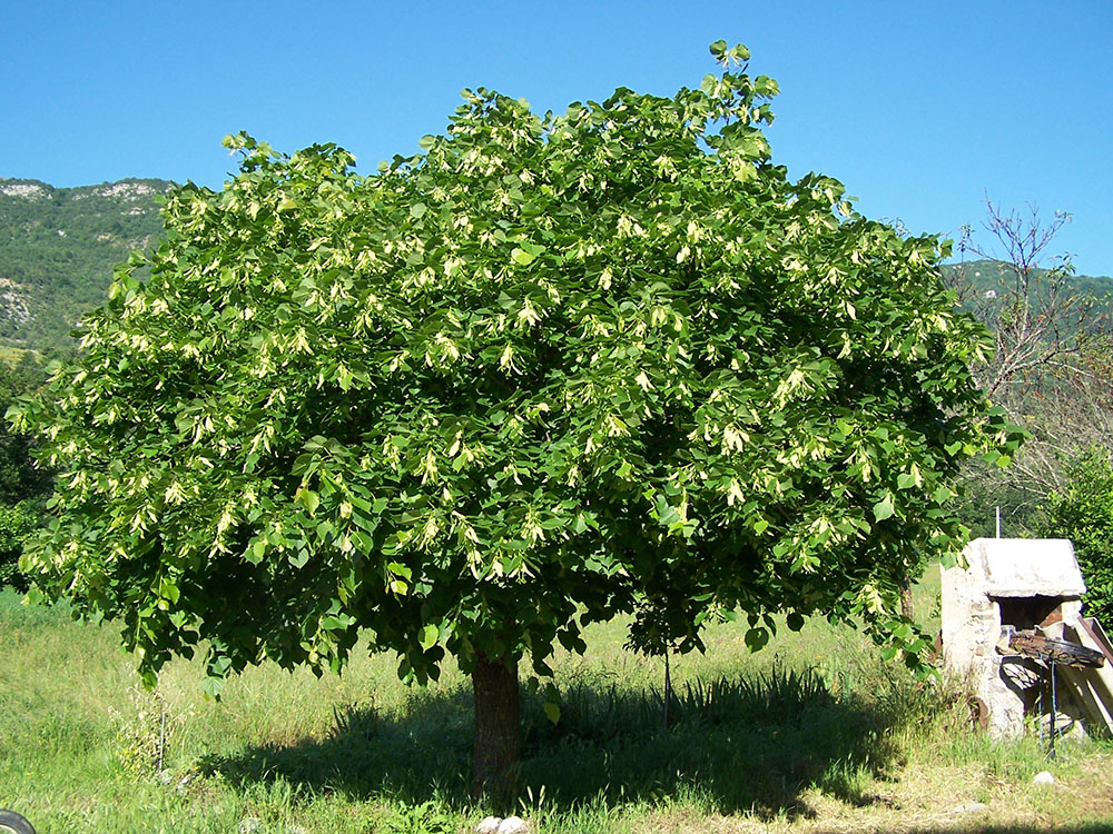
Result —
[[[959, 304], [994, 336], [992, 354], [972, 368], [975, 378], [1032, 440], [1008, 470], [974, 470], [971, 477], [993, 478], [995, 487], [1004, 479], [1018, 500], [1034, 504], [1062, 487], [1063, 464], [1077, 449], [1113, 444], [1113, 367], [1100, 363], [1107, 327], [1096, 299], [1075, 287], [1070, 257], [1048, 257], [1070, 215], [1055, 212], [1045, 222], [1031, 205], [1005, 211], [986, 199], [986, 207], [991, 242], [983, 245], [966, 227], [963, 261], [951, 281]], [[989, 287], [977, 274], [986, 261], [997, 277]]]

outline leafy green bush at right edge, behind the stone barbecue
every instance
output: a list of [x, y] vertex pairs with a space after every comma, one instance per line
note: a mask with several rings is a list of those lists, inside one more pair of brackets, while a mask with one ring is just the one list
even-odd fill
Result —
[[1113, 623], [1113, 461], [1091, 449], [1066, 470], [1066, 488], [1047, 498], [1044, 535], [1074, 543], [1086, 580], [1086, 614]]

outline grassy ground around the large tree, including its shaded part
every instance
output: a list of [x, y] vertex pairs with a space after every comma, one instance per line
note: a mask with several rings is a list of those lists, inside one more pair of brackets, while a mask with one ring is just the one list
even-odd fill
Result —
[[[918, 589], [924, 618], [937, 593]], [[1113, 745], [1048, 762], [1035, 739], [992, 744], [959, 694], [848, 629], [811, 622], [751, 655], [717, 626], [673, 661], [668, 727], [661, 662], [624, 638], [610, 623], [559, 657], [558, 725], [525, 699], [516, 813], [534, 832], [1113, 832]], [[260, 667], [220, 703], [200, 681], [177, 662], [145, 692], [111, 626], [0, 592], [0, 806], [40, 834], [436, 834], [492, 811], [469, 796], [454, 669], [421, 689], [388, 657], [319, 681]], [[1033, 785], [1044, 770], [1056, 783]]]

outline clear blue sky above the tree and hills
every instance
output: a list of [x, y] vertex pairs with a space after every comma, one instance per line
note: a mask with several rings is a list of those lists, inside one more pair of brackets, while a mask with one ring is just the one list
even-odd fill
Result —
[[462, 87], [535, 108], [699, 85], [707, 44], [776, 78], [791, 176], [954, 236], [1005, 207], [1073, 215], [1053, 254], [1113, 276], [1113, 1], [52, 2], [0, 0], [0, 176], [219, 187], [225, 133], [333, 141], [359, 169], [441, 132]]

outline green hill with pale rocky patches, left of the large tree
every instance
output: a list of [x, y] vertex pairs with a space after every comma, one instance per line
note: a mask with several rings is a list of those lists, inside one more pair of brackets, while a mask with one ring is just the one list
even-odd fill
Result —
[[105, 300], [112, 267], [161, 234], [155, 200], [171, 185], [0, 178], [0, 346], [71, 347], [70, 330]]

